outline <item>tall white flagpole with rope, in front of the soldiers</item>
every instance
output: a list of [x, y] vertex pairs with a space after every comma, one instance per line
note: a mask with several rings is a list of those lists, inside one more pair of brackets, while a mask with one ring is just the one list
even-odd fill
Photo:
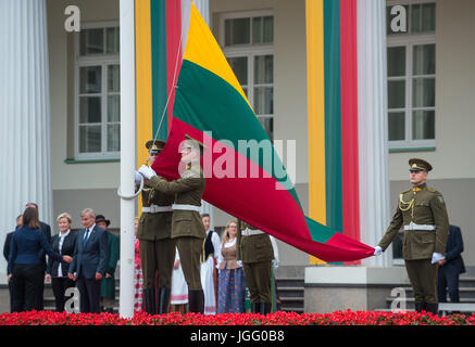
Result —
[[134, 0], [120, 0], [121, 31], [121, 285], [120, 314], [134, 316], [136, 107]]

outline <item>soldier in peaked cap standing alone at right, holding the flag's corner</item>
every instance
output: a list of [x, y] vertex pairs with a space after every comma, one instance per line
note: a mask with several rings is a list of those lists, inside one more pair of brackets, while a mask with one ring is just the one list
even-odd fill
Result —
[[416, 311], [437, 314], [437, 262], [442, 258], [449, 233], [449, 218], [442, 194], [426, 184], [432, 165], [420, 158], [409, 160], [412, 189], [399, 195], [392, 220], [375, 247], [384, 252], [404, 227], [402, 255], [411, 281]]

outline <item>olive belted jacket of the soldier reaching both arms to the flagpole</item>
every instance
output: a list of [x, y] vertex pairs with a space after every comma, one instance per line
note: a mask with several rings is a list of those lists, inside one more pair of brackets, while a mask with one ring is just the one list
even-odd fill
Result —
[[[150, 179], [150, 183], [153, 190], [174, 196], [174, 204], [201, 206], [201, 197], [203, 196], [205, 185], [205, 179], [201, 169], [198, 171], [193, 167], [187, 167], [182, 177], [172, 182], [154, 176]], [[198, 211], [180, 209], [173, 211], [172, 239], [179, 236], [207, 237], [207, 232]]]

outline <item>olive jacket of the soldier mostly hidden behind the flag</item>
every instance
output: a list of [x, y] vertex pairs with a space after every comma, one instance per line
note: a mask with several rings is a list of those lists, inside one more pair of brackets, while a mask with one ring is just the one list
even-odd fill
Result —
[[242, 262], [261, 262], [274, 259], [274, 249], [267, 233], [243, 236], [242, 230], [255, 230], [257, 228], [242, 220], [238, 220], [237, 227], [236, 249], [238, 260]]

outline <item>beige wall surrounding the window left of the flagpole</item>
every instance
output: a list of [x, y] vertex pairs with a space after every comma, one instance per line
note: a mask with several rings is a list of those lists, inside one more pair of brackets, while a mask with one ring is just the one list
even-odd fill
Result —
[[[48, 39], [50, 51], [50, 90], [51, 90], [51, 167], [52, 189], [116, 189], [120, 185], [120, 164], [65, 164], [67, 143], [71, 142], [68, 129], [74, 115], [68, 95], [72, 76], [68, 66], [68, 41], [71, 37], [64, 29], [66, 15], [64, 9], [74, 4], [79, 8], [82, 22], [118, 22], [118, 0], [48, 0]], [[72, 52], [70, 52], [72, 53]], [[74, 61], [70, 61], [74, 64]], [[74, 65], [72, 65], [74, 66]], [[70, 76], [68, 76], [70, 75]], [[70, 125], [71, 127], [71, 125]], [[74, 133], [74, 132], [73, 132]]]

